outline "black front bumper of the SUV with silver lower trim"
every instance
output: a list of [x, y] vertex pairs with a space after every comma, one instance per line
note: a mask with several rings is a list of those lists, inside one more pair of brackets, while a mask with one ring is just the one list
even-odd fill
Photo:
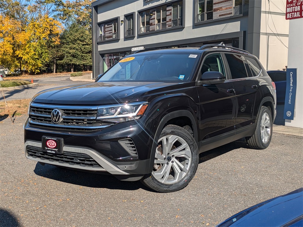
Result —
[[[142, 117], [142, 120], [115, 124], [93, 133], [70, 133], [31, 127], [27, 120], [24, 129], [25, 156], [41, 163], [84, 171], [113, 175], [147, 174], [150, 172], [154, 141], [152, 121]], [[42, 136], [62, 138], [62, 154], [43, 151]], [[137, 156], [131, 156], [118, 142], [125, 138], [132, 139]]]

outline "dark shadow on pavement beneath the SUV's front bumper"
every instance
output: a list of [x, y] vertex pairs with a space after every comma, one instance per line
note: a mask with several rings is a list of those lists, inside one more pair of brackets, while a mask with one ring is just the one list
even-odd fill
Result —
[[34, 173], [45, 178], [91, 188], [120, 189], [128, 191], [142, 188], [146, 191], [155, 192], [148, 187], [145, 187], [139, 181], [120, 181], [111, 175], [82, 172], [48, 164], [42, 166], [40, 163], [37, 163]]

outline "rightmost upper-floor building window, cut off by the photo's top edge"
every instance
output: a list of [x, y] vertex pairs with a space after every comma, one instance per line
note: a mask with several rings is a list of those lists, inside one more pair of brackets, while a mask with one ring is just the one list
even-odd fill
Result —
[[247, 13], [248, 0], [195, 0], [195, 23]]

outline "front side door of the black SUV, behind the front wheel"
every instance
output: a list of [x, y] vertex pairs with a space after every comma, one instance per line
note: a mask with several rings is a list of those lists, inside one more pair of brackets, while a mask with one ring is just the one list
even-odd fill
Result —
[[[197, 80], [206, 71], [218, 71], [226, 77], [226, 69], [221, 53], [208, 54], [204, 57]], [[201, 150], [209, 150], [215, 146], [209, 144], [231, 142], [235, 134], [235, 95], [231, 81], [226, 80], [222, 84], [197, 85], [199, 96], [199, 147]], [[201, 151], [200, 150], [200, 151]]]

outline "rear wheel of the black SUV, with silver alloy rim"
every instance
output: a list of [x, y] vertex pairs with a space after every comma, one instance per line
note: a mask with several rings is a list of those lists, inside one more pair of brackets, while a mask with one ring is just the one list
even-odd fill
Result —
[[253, 149], [265, 149], [269, 146], [272, 137], [272, 117], [268, 107], [262, 106], [257, 120], [254, 135], [245, 137], [248, 146]]

